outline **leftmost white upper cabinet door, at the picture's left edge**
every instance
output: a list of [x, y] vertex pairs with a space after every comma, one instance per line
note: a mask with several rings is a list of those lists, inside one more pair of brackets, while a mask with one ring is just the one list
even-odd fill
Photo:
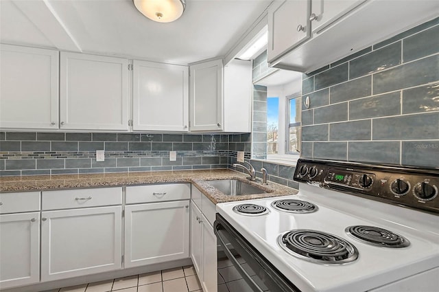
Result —
[[58, 52], [0, 45], [0, 127], [58, 128]]

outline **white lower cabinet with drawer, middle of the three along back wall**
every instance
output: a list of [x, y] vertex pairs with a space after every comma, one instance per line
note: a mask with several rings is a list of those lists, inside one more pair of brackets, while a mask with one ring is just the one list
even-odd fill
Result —
[[42, 282], [121, 269], [121, 195], [122, 188], [43, 192]]

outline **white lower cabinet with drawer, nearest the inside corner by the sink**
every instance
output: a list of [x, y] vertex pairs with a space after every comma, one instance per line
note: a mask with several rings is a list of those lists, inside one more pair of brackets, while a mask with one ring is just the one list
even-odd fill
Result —
[[[189, 258], [189, 184], [127, 187], [125, 267]], [[178, 198], [178, 201], [169, 201]]]

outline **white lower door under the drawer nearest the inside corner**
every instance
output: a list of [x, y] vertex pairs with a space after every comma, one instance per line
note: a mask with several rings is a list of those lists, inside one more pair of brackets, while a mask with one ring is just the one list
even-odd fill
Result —
[[126, 205], [126, 268], [182, 258], [189, 258], [189, 200]]

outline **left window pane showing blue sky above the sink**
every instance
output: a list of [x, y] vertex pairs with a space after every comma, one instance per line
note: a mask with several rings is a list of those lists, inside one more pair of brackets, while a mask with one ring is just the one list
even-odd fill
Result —
[[267, 98], [267, 154], [278, 153], [279, 98]]

